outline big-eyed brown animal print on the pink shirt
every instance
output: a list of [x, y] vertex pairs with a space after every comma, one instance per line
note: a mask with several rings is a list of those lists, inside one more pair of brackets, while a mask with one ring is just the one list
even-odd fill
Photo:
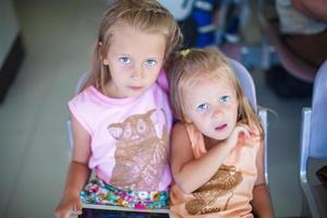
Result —
[[108, 131], [117, 141], [110, 183], [137, 191], [158, 190], [168, 161], [169, 135], [164, 110], [134, 114]]

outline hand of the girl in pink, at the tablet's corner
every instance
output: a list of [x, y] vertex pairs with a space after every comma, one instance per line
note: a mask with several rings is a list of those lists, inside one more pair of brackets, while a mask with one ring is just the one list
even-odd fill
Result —
[[69, 196], [60, 201], [55, 210], [56, 218], [69, 218], [71, 215], [82, 214], [82, 202], [80, 196]]

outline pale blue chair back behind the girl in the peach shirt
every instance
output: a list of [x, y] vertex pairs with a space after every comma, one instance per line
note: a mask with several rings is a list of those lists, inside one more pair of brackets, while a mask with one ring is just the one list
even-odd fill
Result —
[[238, 61], [229, 59], [232, 69], [234, 70], [241, 86], [243, 87], [244, 95], [250, 100], [251, 106], [257, 112], [262, 120], [262, 124], [265, 131], [265, 180], [268, 187], [268, 113], [267, 109], [258, 108], [256, 104], [255, 85], [249, 71]]

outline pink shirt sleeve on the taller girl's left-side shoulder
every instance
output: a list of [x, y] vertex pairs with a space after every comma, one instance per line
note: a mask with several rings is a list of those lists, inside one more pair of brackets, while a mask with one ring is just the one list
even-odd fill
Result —
[[85, 93], [80, 93], [73, 99], [69, 101], [69, 109], [74, 116], [74, 118], [80, 122], [80, 124], [88, 132], [89, 135], [93, 135], [93, 131], [89, 122], [87, 121], [90, 110], [89, 110], [89, 97]]

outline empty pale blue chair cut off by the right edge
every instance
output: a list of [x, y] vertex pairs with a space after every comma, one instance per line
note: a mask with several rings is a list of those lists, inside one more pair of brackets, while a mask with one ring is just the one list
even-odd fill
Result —
[[314, 81], [311, 108], [302, 110], [300, 144], [300, 185], [312, 217], [327, 217], [327, 190], [311, 185], [307, 166], [311, 158], [327, 160], [327, 60]]

